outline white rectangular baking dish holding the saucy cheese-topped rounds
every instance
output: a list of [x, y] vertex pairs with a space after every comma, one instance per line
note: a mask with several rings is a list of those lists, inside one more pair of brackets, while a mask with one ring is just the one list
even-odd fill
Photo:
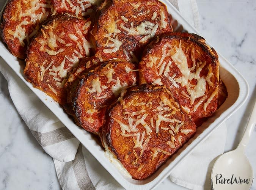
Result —
[[[171, 5], [168, 0], [162, 0], [167, 6], [168, 12], [174, 19], [182, 24], [184, 29], [189, 33], [198, 33]], [[63, 111], [52, 98], [47, 96], [42, 91], [34, 88], [31, 83], [28, 83], [23, 75], [22, 65], [23, 61], [18, 60], [11, 55], [6, 49], [3, 42], [0, 42], [0, 56], [8, 63], [8, 65], [16, 72], [16, 74], [23, 80], [28, 87], [42, 100], [42, 102], [60, 119], [61, 122], [74, 134], [74, 136], [85, 146], [88, 151], [101, 163], [102, 166], [119, 182], [124, 188], [132, 189], [151, 189], [165, 179], [173, 170], [173, 168], [181, 162], [202, 140], [207, 138], [222, 122], [234, 113], [247, 99], [249, 87], [246, 80], [240, 73], [220, 54], [220, 76], [227, 86], [228, 98], [225, 103], [216, 111], [216, 113], [208, 119], [207, 122], [198, 128], [196, 135], [188, 141], [171, 159], [169, 159], [163, 166], [159, 168], [151, 177], [143, 181], [133, 180], [126, 177], [116, 166], [110, 162], [102, 151], [101, 146], [97, 144], [93, 136], [85, 130], [77, 127], [71, 118]], [[217, 142], [216, 142], [217, 143]], [[184, 171], [186, 172], [186, 171]]]

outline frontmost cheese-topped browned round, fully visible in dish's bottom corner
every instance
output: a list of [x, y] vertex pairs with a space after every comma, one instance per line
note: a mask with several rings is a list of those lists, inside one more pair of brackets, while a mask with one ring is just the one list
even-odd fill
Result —
[[[104, 132], [105, 130], [105, 132]], [[196, 132], [165, 86], [132, 87], [109, 113], [108, 148], [133, 179], [146, 179]]]

